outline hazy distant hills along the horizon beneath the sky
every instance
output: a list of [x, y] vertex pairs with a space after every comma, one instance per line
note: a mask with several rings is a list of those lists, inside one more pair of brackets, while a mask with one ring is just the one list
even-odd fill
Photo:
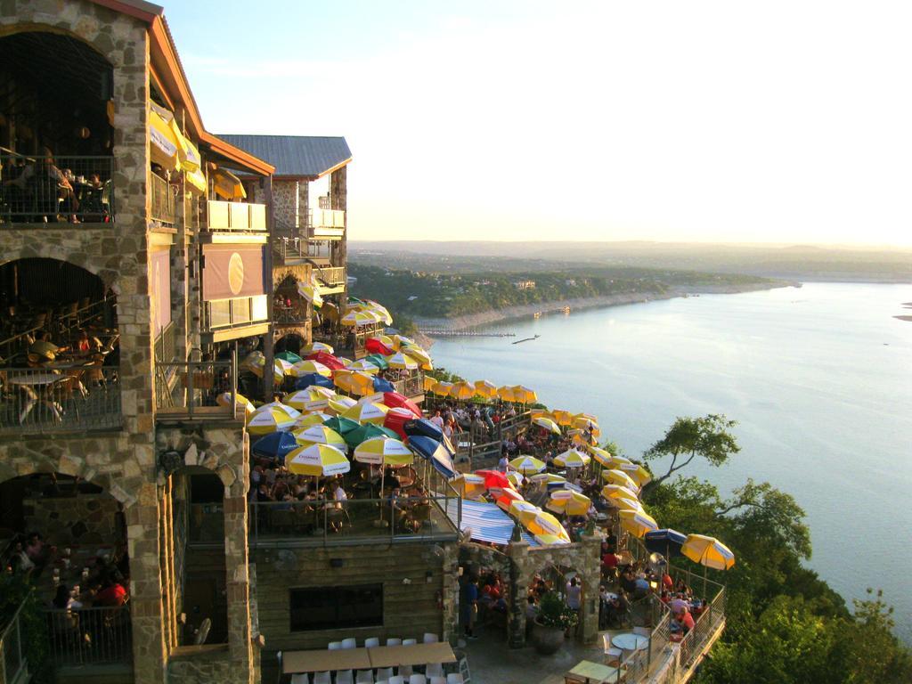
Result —
[[912, 282], [912, 248], [698, 243], [352, 241], [349, 258], [428, 271], [574, 265], [690, 269], [793, 280]]

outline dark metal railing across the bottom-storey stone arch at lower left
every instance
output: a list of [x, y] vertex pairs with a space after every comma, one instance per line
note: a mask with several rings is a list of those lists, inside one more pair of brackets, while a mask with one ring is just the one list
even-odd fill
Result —
[[129, 605], [45, 611], [57, 666], [124, 663], [133, 658]]

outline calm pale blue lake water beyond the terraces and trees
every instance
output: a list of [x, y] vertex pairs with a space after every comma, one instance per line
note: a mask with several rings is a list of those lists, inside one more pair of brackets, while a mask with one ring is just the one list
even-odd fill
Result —
[[723, 492], [751, 477], [793, 494], [814, 570], [846, 599], [882, 587], [912, 642], [912, 322], [892, 317], [909, 301], [912, 285], [700, 295], [504, 321], [488, 329], [517, 337], [443, 338], [432, 355], [595, 413], [628, 456], [677, 416], [738, 420], [741, 452], [689, 472]]

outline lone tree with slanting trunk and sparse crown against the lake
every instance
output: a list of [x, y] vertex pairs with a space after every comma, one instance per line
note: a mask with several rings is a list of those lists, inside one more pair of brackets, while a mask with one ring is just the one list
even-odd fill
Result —
[[714, 414], [703, 418], [676, 419], [665, 437], [643, 454], [647, 461], [671, 457], [668, 472], [647, 486], [655, 488], [675, 472], [687, 467], [698, 456], [717, 467], [728, 461], [732, 453], [741, 451], [738, 440], [729, 432], [735, 425], [737, 423], [734, 420]]

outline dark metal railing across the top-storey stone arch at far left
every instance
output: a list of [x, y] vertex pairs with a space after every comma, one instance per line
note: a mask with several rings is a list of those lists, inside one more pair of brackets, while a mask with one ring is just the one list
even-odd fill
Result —
[[[112, 223], [113, 157], [0, 154], [0, 225]], [[11, 182], [7, 182], [11, 181]]]

